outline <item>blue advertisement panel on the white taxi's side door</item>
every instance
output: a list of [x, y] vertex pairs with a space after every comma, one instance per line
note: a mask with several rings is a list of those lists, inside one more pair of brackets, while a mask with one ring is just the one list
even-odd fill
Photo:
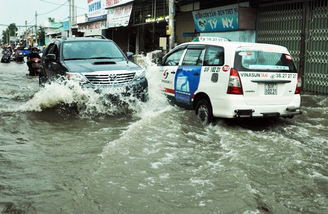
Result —
[[179, 66], [174, 79], [175, 101], [192, 106], [191, 99], [198, 89], [201, 66]]

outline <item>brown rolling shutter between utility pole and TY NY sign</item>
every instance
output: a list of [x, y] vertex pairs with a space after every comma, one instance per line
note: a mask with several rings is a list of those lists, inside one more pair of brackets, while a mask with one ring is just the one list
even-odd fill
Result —
[[[185, 43], [185, 37], [182, 36], [183, 33], [193, 33], [195, 32], [195, 23], [192, 11], [176, 14], [175, 16], [175, 33], [178, 37], [177, 44], [180, 45]], [[186, 42], [191, 41], [192, 37], [186, 37]]]

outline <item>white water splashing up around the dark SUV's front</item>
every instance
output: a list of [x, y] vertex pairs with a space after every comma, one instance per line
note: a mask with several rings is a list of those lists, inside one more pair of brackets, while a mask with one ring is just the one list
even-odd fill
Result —
[[[26, 103], [18, 106], [15, 111], [41, 112], [58, 105], [76, 107], [80, 116], [113, 115], [118, 113], [133, 112], [138, 117], [149, 117], [163, 108], [167, 108], [168, 102], [159, 88], [159, 80], [150, 69], [154, 63], [148, 57], [138, 55], [138, 65], [146, 70], [146, 78], [149, 84], [149, 101], [144, 103], [132, 95], [130, 97], [119, 96], [126, 105], [115, 105], [107, 99], [108, 89], [83, 88], [78, 82], [60, 80], [46, 84], [40, 88]], [[96, 92], [97, 90], [97, 92]]]

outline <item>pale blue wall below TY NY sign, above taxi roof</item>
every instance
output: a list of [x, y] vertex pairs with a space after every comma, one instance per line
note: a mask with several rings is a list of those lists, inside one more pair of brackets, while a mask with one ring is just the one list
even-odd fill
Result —
[[200, 33], [200, 36], [216, 36], [216, 37], [228, 38], [231, 41], [256, 42], [255, 30], [207, 32], [207, 33]]

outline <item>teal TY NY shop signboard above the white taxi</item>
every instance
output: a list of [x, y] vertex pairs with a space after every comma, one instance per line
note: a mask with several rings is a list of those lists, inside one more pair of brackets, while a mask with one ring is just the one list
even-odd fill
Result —
[[238, 30], [238, 8], [247, 6], [249, 2], [193, 11], [196, 30], [197, 32]]

